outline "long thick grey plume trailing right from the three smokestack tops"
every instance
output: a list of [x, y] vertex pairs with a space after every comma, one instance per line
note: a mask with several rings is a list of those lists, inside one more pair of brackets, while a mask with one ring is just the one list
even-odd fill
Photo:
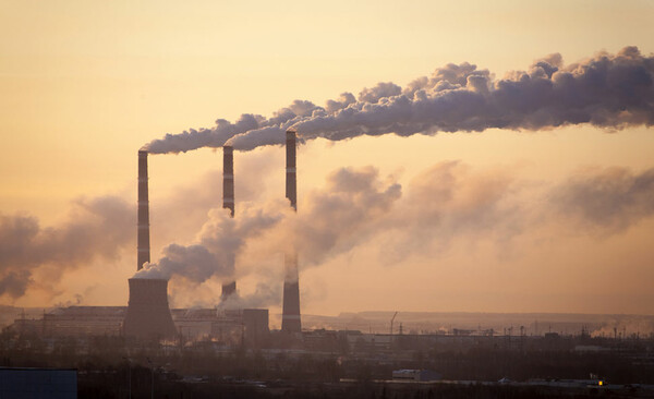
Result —
[[168, 134], [145, 148], [179, 153], [228, 143], [250, 150], [283, 144], [293, 128], [304, 140], [338, 141], [359, 135], [481, 132], [491, 128], [542, 130], [589, 123], [619, 130], [654, 124], [654, 58], [626, 47], [564, 65], [560, 55], [537, 60], [529, 71], [495, 80], [474, 64], [448, 64], [401, 88], [379, 83], [350, 93], [325, 108], [295, 100], [266, 119], [243, 114], [235, 123], [218, 120], [213, 129]]

